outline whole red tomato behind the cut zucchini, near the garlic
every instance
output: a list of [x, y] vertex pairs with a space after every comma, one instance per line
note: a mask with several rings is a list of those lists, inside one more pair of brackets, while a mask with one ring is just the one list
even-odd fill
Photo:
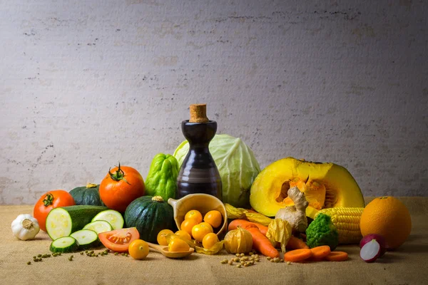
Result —
[[75, 204], [70, 193], [64, 190], [49, 191], [41, 195], [39, 201], [34, 205], [33, 216], [39, 222], [40, 229], [46, 232], [46, 217], [48, 217], [51, 209], [73, 206]]

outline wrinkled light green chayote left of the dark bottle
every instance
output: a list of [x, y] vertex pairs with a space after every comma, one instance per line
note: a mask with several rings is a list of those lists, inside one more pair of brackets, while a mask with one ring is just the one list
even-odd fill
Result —
[[146, 195], [161, 196], [164, 201], [175, 199], [179, 170], [178, 161], [173, 155], [155, 155], [146, 177]]

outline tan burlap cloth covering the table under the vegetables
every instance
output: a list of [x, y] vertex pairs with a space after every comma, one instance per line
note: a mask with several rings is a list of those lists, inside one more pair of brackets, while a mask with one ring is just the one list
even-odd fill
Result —
[[348, 245], [337, 248], [348, 252], [350, 259], [345, 262], [287, 265], [263, 257], [245, 268], [220, 264], [233, 257], [224, 251], [215, 256], [192, 254], [182, 260], [150, 252], [142, 261], [74, 253], [73, 261], [68, 261], [71, 254], [63, 254], [34, 263], [34, 255], [49, 253], [48, 235], [41, 232], [35, 240], [24, 242], [13, 237], [10, 227], [18, 214], [32, 213], [33, 207], [0, 206], [0, 284], [428, 284], [428, 197], [400, 199], [412, 214], [412, 234], [397, 251], [372, 264], [360, 259], [357, 245]]

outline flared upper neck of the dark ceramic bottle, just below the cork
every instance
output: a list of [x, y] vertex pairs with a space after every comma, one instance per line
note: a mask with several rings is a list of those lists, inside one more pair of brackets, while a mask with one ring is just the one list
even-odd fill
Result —
[[210, 120], [208, 123], [189, 123], [183, 120], [181, 130], [190, 147], [208, 147], [217, 132], [217, 122]]

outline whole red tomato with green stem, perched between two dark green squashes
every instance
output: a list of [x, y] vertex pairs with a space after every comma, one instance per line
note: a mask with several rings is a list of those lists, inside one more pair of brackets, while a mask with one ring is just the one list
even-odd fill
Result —
[[128, 204], [144, 195], [143, 177], [132, 167], [121, 166], [108, 170], [100, 184], [100, 197], [110, 209], [125, 212]]

